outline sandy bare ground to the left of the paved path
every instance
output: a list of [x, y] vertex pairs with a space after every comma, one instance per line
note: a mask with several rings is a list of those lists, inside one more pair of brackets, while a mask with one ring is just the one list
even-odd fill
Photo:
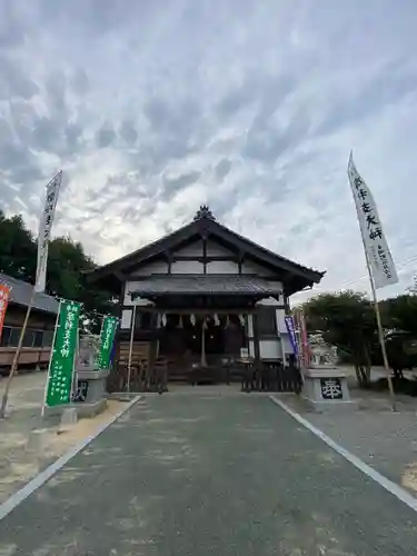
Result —
[[[102, 414], [80, 419], [62, 431], [59, 419], [41, 418], [46, 373], [16, 376], [11, 386], [8, 416], [0, 420], [0, 504], [72, 446], [111, 420], [126, 403], [109, 400]], [[2, 396], [6, 379], [0, 379]], [[41, 443], [33, 431], [43, 429]], [[36, 433], [34, 433], [36, 434]]]

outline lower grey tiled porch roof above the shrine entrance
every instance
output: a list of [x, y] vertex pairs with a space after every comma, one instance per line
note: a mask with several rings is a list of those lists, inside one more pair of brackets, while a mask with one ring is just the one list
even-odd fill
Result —
[[256, 276], [199, 275], [152, 276], [140, 281], [131, 294], [136, 296], [163, 295], [251, 295], [275, 296], [281, 288]]

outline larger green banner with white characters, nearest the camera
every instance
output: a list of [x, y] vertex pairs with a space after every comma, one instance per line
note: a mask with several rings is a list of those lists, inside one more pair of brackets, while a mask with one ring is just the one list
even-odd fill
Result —
[[71, 401], [73, 360], [78, 341], [81, 305], [62, 300], [49, 361], [46, 404], [49, 407]]

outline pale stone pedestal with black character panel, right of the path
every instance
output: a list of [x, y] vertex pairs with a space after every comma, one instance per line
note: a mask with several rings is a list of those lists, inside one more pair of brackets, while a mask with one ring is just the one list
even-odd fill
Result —
[[328, 409], [353, 409], [347, 375], [338, 367], [311, 367], [304, 373], [301, 393], [310, 407], [322, 411]]

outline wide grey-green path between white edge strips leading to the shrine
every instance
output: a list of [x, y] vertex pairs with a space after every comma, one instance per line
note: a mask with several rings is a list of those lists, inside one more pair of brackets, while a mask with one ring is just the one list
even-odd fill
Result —
[[413, 556], [416, 540], [408, 507], [250, 395], [139, 401], [0, 523], [1, 556]]

